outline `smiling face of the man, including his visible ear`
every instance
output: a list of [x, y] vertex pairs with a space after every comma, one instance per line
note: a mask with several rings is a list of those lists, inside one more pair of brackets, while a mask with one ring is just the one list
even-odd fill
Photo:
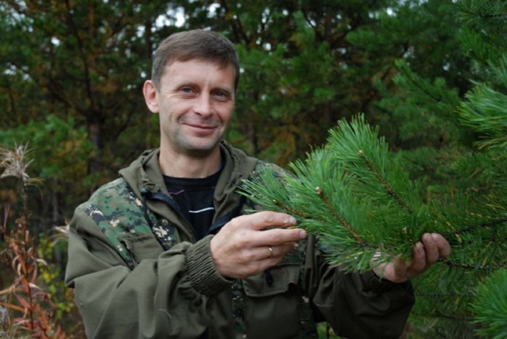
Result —
[[144, 96], [160, 114], [161, 147], [194, 157], [216, 150], [234, 108], [234, 78], [232, 65], [193, 59], [165, 66], [159, 90], [147, 81]]

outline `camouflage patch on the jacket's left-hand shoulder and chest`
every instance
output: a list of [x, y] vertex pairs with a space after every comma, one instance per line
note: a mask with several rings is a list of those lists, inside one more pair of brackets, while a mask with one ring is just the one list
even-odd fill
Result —
[[[142, 201], [125, 180], [119, 178], [98, 189], [88, 200], [85, 212], [133, 269], [136, 261], [129, 240], [152, 234], [152, 229], [144, 216]], [[164, 249], [171, 248], [177, 239], [175, 227], [149, 209], [148, 217], [153, 224], [153, 233]]]

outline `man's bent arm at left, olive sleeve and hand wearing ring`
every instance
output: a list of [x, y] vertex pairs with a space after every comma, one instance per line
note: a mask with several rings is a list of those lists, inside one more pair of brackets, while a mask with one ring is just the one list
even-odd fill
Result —
[[281, 213], [241, 216], [213, 237], [176, 244], [130, 270], [78, 208], [65, 280], [75, 288], [90, 338], [199, 337], [209, 323], [209, 301], [230, 288], [229, 278], [264, 271], [306, 237], [303, 230], [285, 229], [294, 224]]

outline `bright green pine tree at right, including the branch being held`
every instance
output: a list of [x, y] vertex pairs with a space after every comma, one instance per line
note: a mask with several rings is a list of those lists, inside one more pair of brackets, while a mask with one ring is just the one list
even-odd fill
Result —
[[413, 112], [408, 119], [419, 123], [403, 124], [406, 140], [444, 130], [443, 140], [440, 134], [427, 146], [394, 152], [358, 115], [340, 120], [327, 144], [289, 164], [291, 172], [261, 173], [245, 182], [243, 194], [294, 215], [319, 237], [330, 263], [349, 271], [369, 270], [398, 253], [410, 259], [422, 233], [443, 234], [451, 256], [413, 280], [413, 337], [500, 338], [507, 335], [507, 40], [501, 33], [507, 5], [460, 1], [456, 8], [473, 88], [460, 95], [443, 78], [422, 78], [400, 61], [394, 100], [380, 103]]

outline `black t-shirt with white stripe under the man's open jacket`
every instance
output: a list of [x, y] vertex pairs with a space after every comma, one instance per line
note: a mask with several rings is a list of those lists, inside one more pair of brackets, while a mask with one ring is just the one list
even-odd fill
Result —
[[167, 190], [192, 226], [196, 240], [207, 235], [213, 221], [213, 192], [221, 172], [222, 168], [202, 179], [164, 176]]

